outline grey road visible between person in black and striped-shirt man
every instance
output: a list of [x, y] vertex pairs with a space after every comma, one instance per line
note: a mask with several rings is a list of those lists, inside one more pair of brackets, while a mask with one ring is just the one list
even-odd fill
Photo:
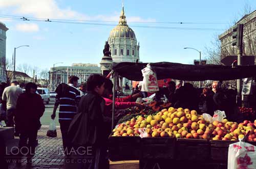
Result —
[[[44, 115], [42, 115], [42, 117], [40, 119], [42, 125], [47, 125], [48, 126], [50, 124], [50, 122], [51, 122], [51, 115], [52, 115], [52, 111], [53, 111], [53, 107], [54, 107], [54, 100], [55, 99], [51, 99], [49, 104], [45, 104], [46, 109], [45, 109]], [[58, 114], [58, 111], [59, 111], [59, 109], [57, 109], [57, 111], [56, 111], [56, 118], [55, 118], [55, 123], [56, 123], [57, 126], [59, 126], [59, 122], [58, 122], [59, 114]]]

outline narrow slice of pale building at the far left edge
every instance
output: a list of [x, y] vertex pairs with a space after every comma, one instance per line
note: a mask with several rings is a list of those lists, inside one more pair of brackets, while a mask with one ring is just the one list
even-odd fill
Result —
[[6, 32], [9, 29], [0, 22], [0, 81], [8, 81], [6, 68]]

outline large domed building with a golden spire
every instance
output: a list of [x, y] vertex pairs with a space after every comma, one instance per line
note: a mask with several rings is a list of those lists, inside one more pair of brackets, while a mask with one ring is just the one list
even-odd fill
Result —
[[119, 23], [110, 32], [108, 39], [113, 62], [136, 62], [139, 60], [139, 44], [134, 31], [127, 25], [122, 7]]

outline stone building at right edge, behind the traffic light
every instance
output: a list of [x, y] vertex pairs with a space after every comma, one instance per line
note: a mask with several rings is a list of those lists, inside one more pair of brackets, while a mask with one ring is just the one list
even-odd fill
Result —
[[[256, 10], [245, 15], [235, 25], [244, 24], [243, 55], [256, 56]], [[232, 26], [233, 27], [233, 26]], [[219, 36], [221, 41], [221, 59], [228, 55], [237, 55], [237, 47], [232, 46], [232, 27]], [[256, 58], [255, 58], [256, 63]]]

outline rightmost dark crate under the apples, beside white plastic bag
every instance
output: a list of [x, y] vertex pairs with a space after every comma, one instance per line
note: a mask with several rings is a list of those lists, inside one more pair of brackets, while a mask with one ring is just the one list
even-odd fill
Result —
[[210, 140], [210, 156], [212, 160], [227, 162], [228, 148], [237, 141]]

